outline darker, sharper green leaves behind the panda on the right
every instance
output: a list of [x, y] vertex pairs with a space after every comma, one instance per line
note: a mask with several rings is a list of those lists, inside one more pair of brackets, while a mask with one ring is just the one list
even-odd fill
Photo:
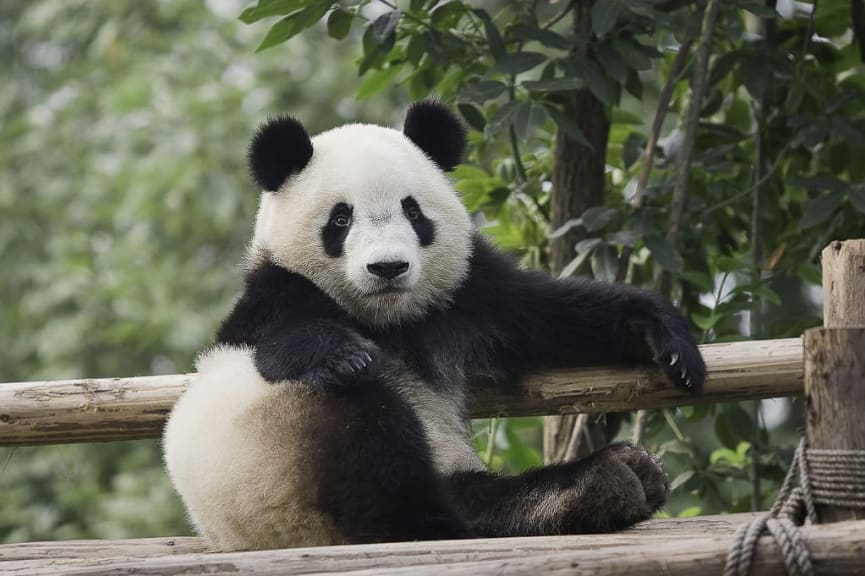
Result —
[[[662, 270], [671, 272], [675, 296], [705, 342], [798, 335], [819, 322], [806, 295], [819, 283], [819, 250], [832, 238], [865, 234], [865, 168], [858, 161], [865, 157], [865, 82], [845, 3], [821, 2], [813, 18], [813, 6], [804, 3], [784, 17], [762, 2], [724, 3], [689, 173], [686, 225], [675, 242], [666, 229], [687, 82], [674, 91], [638, 207], [634, 195], [657, 95], [675, 57], [668, 47], [699, 33], [696, 3], [667, 12], [657, 2], [598, 0], [592, 35], [579, 37], [570, 28], [570, 5], [330, 4], [332, 13], [347, 12], [363, 28], [357, 31], [359, 98], [396, 84], [412, 100], [435, 95], [460, 111], [471, 133], [469, 158], [454, 172], [457, 190], [484, 231], [526, 265], [545, 267], [549, 239], [582, 227], [588, 238], [577, 244], [563, 275], [591, 262], [597, 277], [612, 280], [623, 251], [632, 251], [628, 281], [654, 286]], [[770, 39], [746, 34], [753, 16], [767, 19]], [[814, 32], [823, 40], [814, 41]], [[612, 120], [605, 202], [550, 231], [557, 133], [587, 148], [598, 145], [564, 112], [574, 90], [588, 90]], [[762, 169], [755, 186], [757, 142], [763, 143]], [[750, 226], [758, 187], [765, 250], [755, 262]], [[763, 327], [749, 334], [743, 320], [755, 306]], [[748, 509], [755, 474], [764, 480], [765, 505], [792, 452], [792, 422], [786, 422], [773, 424], [770, 441], [751, 404], [653, 414], [647, 440], [674, 473], [671, 508], [683, 514]], [[536, 465], [538, 426], [539, 419], [477, 423], [478, 450], [508, 471]], [[534, 443], [532, 456], [523, 437]]]

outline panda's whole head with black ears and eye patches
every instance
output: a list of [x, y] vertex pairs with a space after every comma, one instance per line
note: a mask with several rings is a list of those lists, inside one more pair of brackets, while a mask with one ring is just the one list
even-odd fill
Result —
[[292, 118], [266, 122], [249, 151], [263, 189], [253, 256], [371, 325], [445, 305], [471, 251], [471, 219], [445, 176], [464, 149], [462, 124], [436, 103], [412, 106], [403, 132], [351, 124], [310, 139]]

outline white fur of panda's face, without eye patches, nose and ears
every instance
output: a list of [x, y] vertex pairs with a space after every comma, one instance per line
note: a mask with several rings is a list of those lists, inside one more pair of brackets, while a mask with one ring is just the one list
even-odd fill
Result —
[[[446, 305], [468, 269], [472, 227], [444, 173], [390, 128], [342, 126], [312, 144], [309, 164], [277, 193], [262, 194], [252, 256], [269, 254], [370, 324], [396, 324]], [[429, 246], [420, 245], [403, 214], [409, 196], [435, 226]], [[321, 231], [340, 202], [353, 208], [352, 225], [343, 254], [331, 257]], [[407, 262], [409, 269], [384, 283], [367, 270], [381, 261]]]

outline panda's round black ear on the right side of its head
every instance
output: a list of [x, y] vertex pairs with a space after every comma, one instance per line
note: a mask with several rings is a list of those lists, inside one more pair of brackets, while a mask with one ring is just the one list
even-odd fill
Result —
[[438, 102], [412, 104], [403, 133], [445, 172], [463, 161], [466, 129], [450, 109]]

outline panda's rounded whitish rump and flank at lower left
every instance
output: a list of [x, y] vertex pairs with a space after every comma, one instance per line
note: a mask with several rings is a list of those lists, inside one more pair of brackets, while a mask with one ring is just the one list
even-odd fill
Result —
[[252, 351], [216, 347], [165, 428], [165, 462], [192, 522], [212, 545], [247, 550], [341, 543], [315, 506], [303, 423], [320, 402], [302, 386], [272, 385]]

